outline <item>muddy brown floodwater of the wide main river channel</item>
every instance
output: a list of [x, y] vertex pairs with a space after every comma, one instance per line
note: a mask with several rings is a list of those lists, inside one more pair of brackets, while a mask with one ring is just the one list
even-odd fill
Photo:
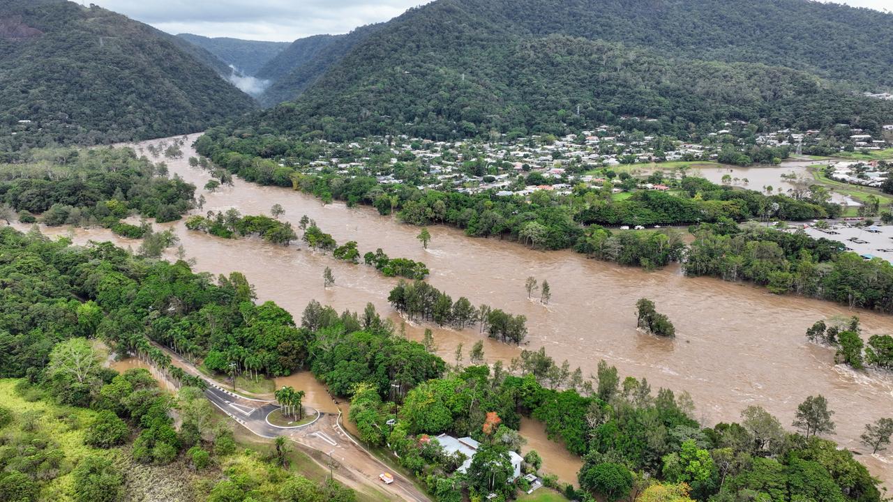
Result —
[[[190, 142], [194, 138], [190, 137]], [[778, 297], [744, 284], [688, 278], [678, 266], [644, 272], [589, 260], [571, 251], [534, 251], [496, 238], [469, 238], [461, 230], [443, 226], [429, 229], [432, 238], [425, 250], [415, 238], [418, 228], [382, 217], [370, 208], [322, 205], [288, 188], [261, 187], [243, 180], [213, 193], [201, 190], [209, 176], [188, 166], [188, 157], [196, 155], [191, 147], [183, 151], [182, 159], [165, 162], [171, 174], [179, 174], [204, 193], [207, 202], [199, 213], [230, 207], [243, 214], [269, 213], [271, 205], [280, 204], [286, 211], [282, 218], [295, 227], [307, 214], [339, 243], [357, 241], [361, 253], [381, 247], [390, 256], [421, 260], [431, 270], [430, 284], [454, 299], [465, 296], [475, 305], [526, 315], [529, 348], [546, 347], [556, 361], [567, 359], [585, 374], [595, 372], [598, 361], [605, 359], [622, 375], [647, 377], [655, 390], [688, 390], [697, 405], [697, 418], [705, 424], [738, 420], [743, 408], [760, 405], [790, 428], [797, 404], [809, 395], [822, 394], [836, 412], [833, 439], [867, 453], [859, 444], [865, 423], [893, 414], [893, 378], [889, 374], [854, 372], [834, 365], [831, 349], [805, 340], [807, 327], [833, 315], [858, 314], [866, 336], [893, 333], [893, 316], [854, 312], [801, 297]], [[161, 226], [176, 230], [188, 257], [196, 259], [197, 272], [244, 272], [255, 285], [259, 300], [276, 301], [298, 320], [307, 302], [316, 299], [338, 311], [362, 311], [371, 302], [380, 313], [401, 322], [387, 301], [396, 280], [371, 267], [347, 264], [303, 246], [215, 238], [188, 231], [183, 222]], [[46, 232], [66, 235], [71, 230]], [[75, 230], [73, 237], [79, 243], [92, 238], [138, 246], [105, 230]], [[326, 266], [336, 279], [330, 289], [322, 285]], [[524, 290], [528, 276], [549, 281], [549, 305], [528, 300]], [[676, 339], [656, 339], [636, 330], [635, 303], [640, 297], [654, 300], [658, 310], [670, 317]], [[406, 326], [407, 336], [421, 339], [425, 327], [434, 330], [438, 353], [447, 362], [453, 361], [457, 344], [463, 343], [467, 354], [467, 348], [481, 338], [477, 329], [412, 325]], [[492, 340], [485, 343], [491, 362], [508, 361], [520, 353], [517, 347]], [[559, 470], [563, 447], [542, 442], [538, 451], [547, 470]], [[859, 458], [882, 480], [893, 481], [891, 453]]]

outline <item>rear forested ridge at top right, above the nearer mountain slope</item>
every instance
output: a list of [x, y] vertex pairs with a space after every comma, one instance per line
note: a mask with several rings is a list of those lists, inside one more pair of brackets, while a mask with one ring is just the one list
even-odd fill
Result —
[[808, 0], [447, 1], [523, 37], [562, 33], [893, 86], [893, 13]]

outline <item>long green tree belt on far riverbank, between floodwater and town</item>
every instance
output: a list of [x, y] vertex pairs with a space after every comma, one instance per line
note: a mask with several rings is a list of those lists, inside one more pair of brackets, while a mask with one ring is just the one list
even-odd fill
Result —
[[[678, 194], [643, 190], [624, 200], [605, 197], [610, 196], [610, 189], [583, 187], [574, 188], [567, 196], [537, 192], [530, 201], [521, 196], [497, 197], [493, 190], [474, 195], [433, 188], [421, 190], [403, 183], [383, 185], [363, 173], [346, 176], [333, 170], [318, 173], [280, 166], [259, 158], [266, 151], [263, 141], [228, 141], [221, 137], [221, 131], [212, 130], [196, 141], [196, 150], [249, 181], [293, 186], [323, 201], [372, 205], [381, 214], [396, 212], [404, 222], [414, 225], [449, 224], [471, 236], [510, 236], [545, 249], [575, 247], [591, 252], [593, 247], [587, 242], [591, 235], [586, 235], [590, 230], [584, 225], [683, 225], [752, 218], [812, 220], [840, 212], [839, 205], [830, 204], [818, 192], [800, 198], [766, 196], [693, 177], [679, 182]], [[653, 249], [629, 241], [626, 244], [638, 250], [639, 259], [644, 257], [653, 266], [666, 264], [675, 257], [672, 246]], [[636, 264], [628, 257], [620, 261]]]

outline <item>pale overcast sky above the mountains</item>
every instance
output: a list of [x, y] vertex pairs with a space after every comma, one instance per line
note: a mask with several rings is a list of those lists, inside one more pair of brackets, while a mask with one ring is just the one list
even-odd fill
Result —
[[[75, 0], [81, 1], [81, 0]], [[733, 0], [730, 0], [733, 1]], [[82, 0], [171, 34], [290, 42], [388, 21], [427, 0]], [[893, 0], [839, 0], [882, 10]]]

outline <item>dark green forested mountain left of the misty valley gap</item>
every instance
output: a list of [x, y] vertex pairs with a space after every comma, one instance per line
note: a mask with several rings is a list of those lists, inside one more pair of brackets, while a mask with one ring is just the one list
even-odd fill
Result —
[[146, 24], [61, 0], [0, 0], [4, 150], [171, 136], [253, 107]]

